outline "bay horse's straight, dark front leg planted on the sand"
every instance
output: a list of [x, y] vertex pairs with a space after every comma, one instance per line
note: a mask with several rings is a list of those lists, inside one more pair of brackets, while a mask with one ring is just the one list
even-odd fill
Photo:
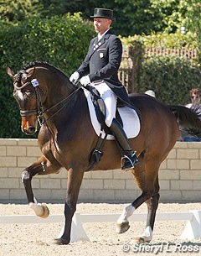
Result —
[[79, 169], [70, 169], [68, 172], [67, 198], [64, 206], [64, 233], [61, 238], [54, 240], [56, 244], [70, 243], [70, 230], [76, 204], [79, 196], [80, 185], [83, 179], [84, 171]]

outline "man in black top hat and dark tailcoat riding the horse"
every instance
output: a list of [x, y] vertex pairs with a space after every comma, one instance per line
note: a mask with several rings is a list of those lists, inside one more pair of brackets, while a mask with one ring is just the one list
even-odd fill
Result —
[[121, 40], [111, 32], [111, 22], [114, 19], [111, 9], [95, 8], [94, 16], [90, 17], [94, 18], [95, 32], [98, 35], [91, 39], [85, 60], [70, 76], [70, 81], [75, 84], [80, 79], [83, 86], [90, 84], [100, 92], [106, 105], [106, 125], [124, 154], [121, 158], [121, 169], [130, 170], [139, 160], [121, 124], [116, 120], [117, 99], [129, 104], [126, 89], [117, 76], [121, 64]]

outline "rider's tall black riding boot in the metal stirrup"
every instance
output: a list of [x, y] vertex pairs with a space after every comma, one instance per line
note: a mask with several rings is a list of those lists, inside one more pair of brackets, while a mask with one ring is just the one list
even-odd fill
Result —
[[126, 133], [115, 118], [112, 120], [110, 130], [123, 150], [124, 156], [121, 158], [121, 170], [130, 170], [134, 168], [135, 165], [139, 164], [136, 152], [131, 148]]

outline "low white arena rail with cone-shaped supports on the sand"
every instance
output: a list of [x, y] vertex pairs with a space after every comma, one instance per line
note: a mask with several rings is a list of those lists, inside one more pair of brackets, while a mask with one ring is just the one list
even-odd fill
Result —
[[[80, 240], [90, 241], [82, 223], [116, 222], [120, 215], [121, 213], [80, 214], [76, 212], [73, 217], [70, 242]], [[129, 217], [129, 221], [144, 222], [146, 218], [147, 213], [137, 213]], [[189, 212], [159, 212], [156, 215], [156, 221], [187, 221], [187, 224], [184, 227], [180, 238], [188, 240], [201, 238], [201, 211], [193, 210]], [[31, 224], [55, 222], [64, 222], [64, 215], [52, 215], [47, 218], [41, 218], [33, 215], [0, 216], [0, 224]], [[61, 233], [62, 231], [60, 234]]]

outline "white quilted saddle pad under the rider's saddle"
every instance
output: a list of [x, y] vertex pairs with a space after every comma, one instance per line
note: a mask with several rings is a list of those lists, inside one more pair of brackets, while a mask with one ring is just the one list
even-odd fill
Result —
[[[95, 130], [95, 133], [99, 136], [100, 133], [101, 137], [104, 138], [106, 133], [104, 131], [101, 131], [101, 124], [98, 122], [95, 114], [95, 108], [93, 103], [91, 102], [90, 98], [90, 91], [83, 88], [83, 91], [85, 92], [85, 97], [88, 102], [88, 107], [90, 110], [90, 120], [93, 125], [93, 128]], [[130, 107], [118, 107], [118, 111], [120, 113], [122, 122], [123, 122], [123, 128], [127, 135], [127, 138], [135, 138], [137, 137], [138, 133], [140, 132], [140, 119], [137, 115], [137, 112], [134, 109], [131, 109]], [[115, 139], [113, 135], [107, 135], [106, 139]]]

